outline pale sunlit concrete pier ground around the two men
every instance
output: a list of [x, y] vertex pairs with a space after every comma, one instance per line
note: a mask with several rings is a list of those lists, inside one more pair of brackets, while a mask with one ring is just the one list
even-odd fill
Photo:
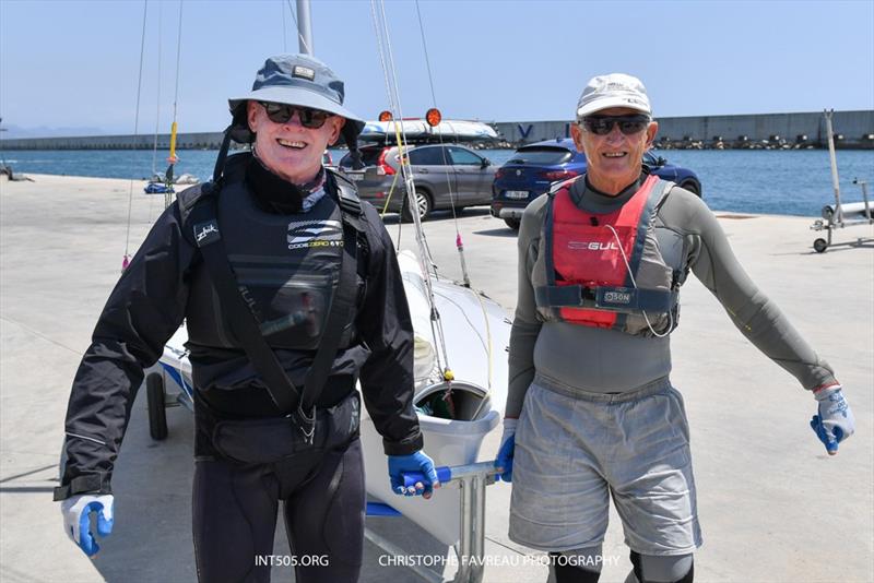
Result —
[[[0, 580], [194, 581], [187, 411], [170, 409], [169, 438], [153, 442], [145, 397], [138, 396], [114, 477], [115, 530], [94, 560], [67, 539], [59, 504], [51, 502], [70, 383], [119, 276], [129, 192], [131, 251], [162, 211], [163, 197], [142, 194], [139, 181], [33, 179], [0, 182]], [[829, 197], [824, 193], [824, 200]], [[874, 245], [819, 254], [811, 247], [818, 236], [808, 229], [814, 217], [717, 214], [753, 279], [837, 371], [858, 427], [837, 456], [826, 455], [808, 427], [816, 411], [811, 394], [751, 346], [689, 277], [672, 336], [672, 377], [692, 426], [705, 539], [695, 558], [696, 581], [871, 582]], [[387, 223], [397, 236], [397, 217]], [[459, 278], [451, 216], [435, 213], [425, 228], [440, 272]], [[473, 285], [511, 314], [515, 233], [485, 207], [464, 210], [459, 228]], [[874, 231], [854, 227], [835, 237], [855, 241]], [[403, 247], [412, 240], [404, 226]], [[506, 358], [503, 350], [498, 358]], [[499, 437], [495, 430], [486, 438], [481, 460], [494, 457]], [[544, 582], [546, 569], [538, 563], [543, 554], [507, 537], [509, 497], [508, 485], [488, 487], [485, 581]], [[404, 519], [374, 519], [368, 525], [410, 556], [453, 557]], [[285, 545], [279, 527], [274, 552], [287, 555]], [[604, 556], [601, 580], [624, 581], [630, 562], [615, 512]], [[385, 563], [382, 552], [366, 544], [362, 581], [420, 581], [410, 570]], [[445, 575], [453, 572], [447, 566]], [[287, 568], [274, 568], [273, 581], [292, 580]]]

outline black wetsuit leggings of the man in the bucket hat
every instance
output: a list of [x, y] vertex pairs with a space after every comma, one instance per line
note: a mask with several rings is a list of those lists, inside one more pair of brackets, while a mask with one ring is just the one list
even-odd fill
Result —
[[[283, 502], [288, 556], [273, 555]], [[240, 466], [199, 456], [193, 534], [201, 583], [270, 581], [271, 564], [294, 567], [297, 583], [355, 582], [364, 546], [361, 441], [281, 463]]]

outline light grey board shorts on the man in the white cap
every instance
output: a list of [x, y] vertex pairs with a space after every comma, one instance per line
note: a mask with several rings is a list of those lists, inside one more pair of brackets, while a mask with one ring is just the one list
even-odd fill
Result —
[[680, 392], [666, 377], [625, 393], [535, 377], [516, 432], [510, 539], [548, 551], [600, 545], [611, 496], [631, 550], [671, 556], [701, 546]]

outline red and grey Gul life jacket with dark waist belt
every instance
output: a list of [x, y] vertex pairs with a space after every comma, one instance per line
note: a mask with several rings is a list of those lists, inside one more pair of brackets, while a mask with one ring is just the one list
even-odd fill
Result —
[[565, 322], [625, 331], [628, 316], [642, 314], [654, 324], [675, 311], [674, 270], [660, 257], [641, 269], [656, 210], [673, 185], [649, 176], [625, 204], [606, 214], [577, 207], [571, 185], [560, 186], [548, 202], [547, 285], [535, 289], [538, 307], [556, 310]]

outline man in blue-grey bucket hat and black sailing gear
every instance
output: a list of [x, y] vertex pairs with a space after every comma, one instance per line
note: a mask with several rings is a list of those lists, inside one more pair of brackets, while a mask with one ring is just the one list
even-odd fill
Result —
[[[364, 127], [343, 100], [321, 61], [268, 59], [229, 100], [213, 181], [179, 194], [113, 290], [73, 381], [55, 492], [88, 556], [90, 515], [102, 536], [113, 528], [110, 479], [143, 369], [184, 319], [200, 581], [269, 581], [280, 501], [298, 583], [358, 579], [358, 380], [395, 491], [439, 486], [413, 411], [413, 328], [391, 239], [322, 166], [328, 145], [342, 135], [354, 148]], [[226, 158], [232, 139], [251, 153]], [[404, 488], [404, 472], [425, 483]]]

